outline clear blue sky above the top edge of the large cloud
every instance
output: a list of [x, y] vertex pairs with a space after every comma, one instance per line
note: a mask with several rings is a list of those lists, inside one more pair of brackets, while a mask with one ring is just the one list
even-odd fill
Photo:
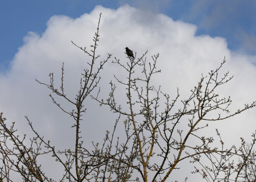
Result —
[[117, 9], [124, 4], [195, 24], [197, 35], [221, 36], [232, 51], [256, 54], [256, 1], [252, 0], [0, 0], [0, 70], [9, 67], [22, 38], [29, 31], [42, 34], [53, 15], [77, 18], [95, 5]]

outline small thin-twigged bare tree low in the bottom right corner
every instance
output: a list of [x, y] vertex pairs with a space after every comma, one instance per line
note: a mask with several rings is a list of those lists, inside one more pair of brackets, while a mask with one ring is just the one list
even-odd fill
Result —
[[[221, 149], [224, 148], [224, 142], [220, 137], [220, 133], [217, 134], [220, 138]], [[199, 163], [201, 169], [195, 167], [195, 171], [192, 173], [200, 173], [202, 177], [210, 181], [255, 181], [255, 157], [256, 153], [253, 150], [255, 147], [256, 135], [253, 133], [253, 142], [246, 144], [243, 138], [241, 139], [241, 146], [237, 148], [232, 146], [227, 153], [204, 153], [202, 157], [209, 161], [209, 165], [202, 163], [197, 157], [193, 157], [192, 163]], [[200, 156], [201, 157], [201, 156]], [[240, 158], [240, 160], [239, 160]], [[222, 175], [221, 175], [222, 174]]]

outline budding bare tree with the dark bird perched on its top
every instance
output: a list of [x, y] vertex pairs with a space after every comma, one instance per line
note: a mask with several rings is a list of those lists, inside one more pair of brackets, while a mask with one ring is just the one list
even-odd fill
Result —
[[[150, 85], [152, 75], [161, 71], [156, 70], [159, 54], [152, 56], [152, 62], [149, 63], [146, 62], [145, 54], [137, 60], [129, 57], [127, 64], [123, 64], [123, 61], [116, 58], [113, 61], [127, 72], [127, 80], [123, 81], [118, 78], [116, 80], [126, 86], [128, 109], [122, 109], [124, 106], [116, 101], [114, 95], [117, 86], [112, 82], [110, 97], [106, 101], [93, 97], [100, 104], [108, 105], [113, 112], [127, 116], [126, 131], [130, 131], [127, 132], [127, 141], [131, 140], [127, 147], [132, 146], [130, 148], [132, 152], [129, 151], [130, 155], [126, 154], [127, 157], [122, 160], [132, 160], [132, 165], [129, 165], [129, 168], [137, 170], [144, 182], [163, 182], [173, 170], [178, 168], [178, 163], [185, 159], [193, 158], [194, 162], [199, 162], [201, 155], [206, 155], [214, 164], [213, 159], [216, 156], [221, 156], [221, 162], [217, 168], [225, 168], [225, 170], [220, 170], [211, 179], [207, 178], [206, 172], [203, 172], [202, 175], [208, 181], [220, 181], [218, 177], [221, 176], [221, 172], [229, 178], [231, 173], [227, 174], [226, 171], [230, 170], [232, 166], [227, 166], [225, 163], [230, 160], [230, 155], [244, 156], [241, 151], [243, 145], [239, 150], [235, 146], [225, 149], [223, 148], [224, 143], [221, 141], [222, 148], [219, 150], [217, 147], [211, 147], [211, 143], [214, 141], [213, 137], [199, 136], [197, 132], [208, 126], [207, 122], [204, 122], [203, 125], [201, 122], [227, 119], [255, 107], [256, 102], [246, 104], [243, 109], [230, 114], [228, 110], [232, 102], [230, 97], [220, 98], [219, 94], [215, 92], [217, 87], [232, 79], [232, 77], [228, 77], [228, 72], [222, 78], [218, 78], [218, 71], [225, 63], [224, 59], [219, 68], [209, 72], [208, 77], [202, 76], [198, 85], [191, 90], [191, 95], [187, 100], [181, 100], [183, 107], [173, 111], [180, 95], [177, 93], [176, 97], [171, 99], [170, 95], [161, 92], [160, 87], [156, 88], [154, 85]], [[136, 66], [142, 69], [142, 75], [135, 74]], [[152, 97], [152, 95], [156, 96]], [[161, 99], [164, 99], [164, 102], [161, 102]], [[163, 103], [165, 104], [164, 109]], [[217, 111], [218, 114], [211, 114], [213, 111], [214, 113]], [[227, 114], [222, 116], [223, 113]], [[180, 122], [187, 122], [188, 129], [185, 133], [183, 132], [184, 128], [179, 128]], [[218, 131], [217, 134], [220, 136]], [[197, 143], [187, 142], [189, 139], [197, 141]], [[252, 147], [253, 145], [254, 143]], [[136, 153], [133, 151], [134, 148], [136, 148]], [[130, 157], [131, 155], [133, 158]], [[225, 181], [225, 176], [222, 177]]]

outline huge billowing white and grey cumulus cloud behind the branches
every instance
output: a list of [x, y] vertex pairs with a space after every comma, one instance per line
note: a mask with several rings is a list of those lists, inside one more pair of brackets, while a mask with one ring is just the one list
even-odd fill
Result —
[[[97, 6], [90, 14], [81, 15], [77, 19], [63, 15], [51, 17], [42, 35], [29, 32], [12, 61], [10, 71], [0, 76], [0, 110], [9, 121], [16, 122], [21, 134], [30, 132], [23, 117], [27, 115], [35, 129], [54, 145], [60, 149], [73, 147], [75, 136], [70, 128], [72, 119], [52, 104], [48, 97], [50, 91], [36, 83], [35, 78], [48, 83], [47, 75], [53, 72], [56, 85], [60, 84], [61, 66], [64, 62], [64, 87], [68, 97], [75, 97], [79, 90], [81, 72], [88, 66], [86, 62], [89, 58], [71, 40], [82, 47], [89, 47], [93, 43], [92, 36], [96, 31], [100, 12], [100, 58], [105, 59], [107, 53], [111, 53], [112, 59], [116, 57], [125, 62], [125, 47], [136, 52], [137, 56], [149, 50], [147, 59], [159, 53], [157, 67], [162, 72], [152, 82], [162, 85], [163, 91], [173, 97], [178, 87], [181, 97], [185, 99], [197, 85], [201, 73], [207, 75], [226, 56], [227, 63], [221, 73], [230, 71], [235, 76], [219, 90], [220, 94], [232, 97], [232, 111], [256, 100], [256, 67], [253, 65], [256, 56], [230, 51], [223, 37], [195, 36], [195, 25], [174, 21], [163, 14], [144, 12], [128, 5], [117, 10]], [[113, 74], [126, 78], [123, 71], [110, 62], [101, 73], [103, 95], [109, 92], [108, 83], [114, 80]], [[119, 97], [124, 98], [125, 95]], [[72, 105], [61, 99], [58, 101], [65, 108], [73, 109]], [[113, 116], [108, 108], [99, 107], [91, 99], [86, 100], [86, 107], [88, 111], [82, 124], [85, 128], [85, 140], [87, 143], [92, 140], [100, 141], [105, 130], [111, 130]], [[250, 139], [256, 128], [255, 120], [256, 112], [252, 109], [227, 121], [210, 123], [211, 131], [218, 128], [227, 142], [237, 143], [240, 136]], [[102, 127], [99, 128], [99, 125]], [[49, 173], [54, 177], [54, 172]]]

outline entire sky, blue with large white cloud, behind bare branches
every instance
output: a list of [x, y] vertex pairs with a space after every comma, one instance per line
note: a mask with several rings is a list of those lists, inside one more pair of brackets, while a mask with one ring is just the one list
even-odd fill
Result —
[[[220, 73], [229, 71], [234, 78], [218, 91], [231, 96], [232, 111], [241, 109], [256, 100], [255, 8], [256, 2], [249, 0], [0, 0], [0, 111], [9, 121], [16, 122], [21, 134], [30, 132], [26, 115], [37, 131], [57, 147], [71, 148], [71, 119], [52, 104], [50, 91], [35, 78], [48, 83], [48, 74], [53, 72], [59, 84], [64, 63], [67, 94], [75, 97], [88, 58], [71, 41], [89, 47], [100, 12], [98, 53], [102, 59], [111, 53], [113, 58], [125, 61], [123, 48], [127, 46], [138, 55], [149, 50], [147, 59], [159, 53], [157, 66], [162, 72], [152, 83], [160, 84], [170, 95], [175, 95], [178, 87], [185, 99], [201, 73], [207, 75], [216, 69], [225, 56], [227, 62]], [[102, 97], [109, 92], [113, 74], [126, 78], [110, 62], [101, 73]], [[117, 95], [119, 100], [124, 97], [121, 93]], [[82, 124], [89, 128], [84, 137], [88, 142], [98, 141], [106, 129], [111, 130], [109, 122], [115, 116], [94, 100], [87, 102], [85, 121], [91, 122]], [[227, 145], [239, 144], [241, 136], [250, 141], [256, 129], [255, 111], [254, 108], [227, 121], [209, 123], [209, 132], [218, 128]], [[44, 167], [52, 168], [52, 164]]]

